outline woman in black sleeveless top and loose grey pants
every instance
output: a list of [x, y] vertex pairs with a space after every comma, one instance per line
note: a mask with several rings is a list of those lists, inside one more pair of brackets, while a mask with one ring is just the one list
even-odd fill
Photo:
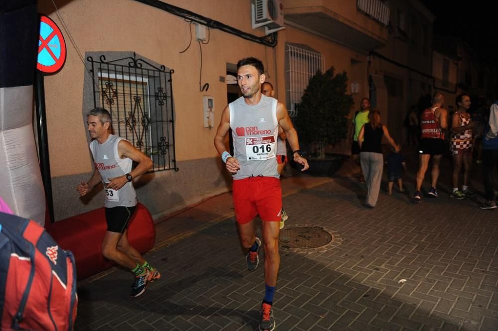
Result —
[[384, 165], [382, 157], [382, 136], [384, 135], [389, 144], [398, 152], [399, 146], [392, 140], [387, 127], [380, 123], [380, 111], [371, 110], [369, 122], [363, 125], [358, 135], [358, 143], [361, 149], [360, 164], [365, 176], [365, 184], [367, 185], [365, 207], [368, 208], [373, 208], [377, 204]]

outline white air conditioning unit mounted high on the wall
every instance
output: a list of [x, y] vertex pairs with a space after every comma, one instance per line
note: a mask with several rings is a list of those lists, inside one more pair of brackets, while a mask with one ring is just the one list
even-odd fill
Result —
[[264, 26], [266, 34], [284, 29], [281, 0], [252, 0], [252, 28]]

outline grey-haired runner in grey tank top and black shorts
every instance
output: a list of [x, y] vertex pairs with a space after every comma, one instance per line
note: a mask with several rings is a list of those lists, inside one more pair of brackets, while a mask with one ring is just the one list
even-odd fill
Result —
[[[102, 242], [102, 255], [133, 272], [135, 282], [130, 296], [138, 297], [145, 292], [149, 282], [161, 277], [129, 244], [127, 238], [128, 222], [137, 204], [132, 181], [152, 167], [152, 160], [128, 140], [111, 133], [109, 111], [103, 108], [90, 110], [87, 124], [93, 139], [90, 151], [95, 170], [92, 178], [81, 182], [76, 190], [80, 196], [85, 196], [101, 182], [104, 185], [107, 231]], [[131, 167], [133, 161], [137, 163], [134, 169]]]

